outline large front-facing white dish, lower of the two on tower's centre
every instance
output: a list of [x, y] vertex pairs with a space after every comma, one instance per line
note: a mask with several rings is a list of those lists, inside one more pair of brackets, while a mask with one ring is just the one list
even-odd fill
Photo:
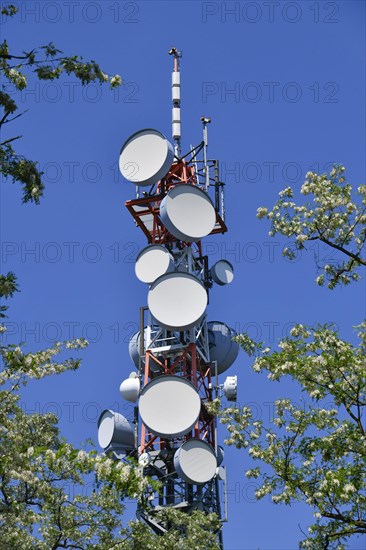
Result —
[[154, 434], [172, 439], [186, 434], [197, 422], [201, 399], [196, 388], [179, 376], [159, 376], [141, 392], [141, 420]]

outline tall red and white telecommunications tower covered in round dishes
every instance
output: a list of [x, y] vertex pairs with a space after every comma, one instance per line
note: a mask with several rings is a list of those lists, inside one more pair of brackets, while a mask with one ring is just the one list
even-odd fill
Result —
[[[211, 119], [201, 117], [202, 140], [182, 155], [181, 52], [169, 54], [174, 145], [148, 128], [127, 139], [119, 157], [123, 177], [136, 186], [126, 207], [148, 242], [135, 264], [137, 278], [148, 285], [140, 330], [129, 344], [136, 371], [120, 386], [122, 398], [136, 403], [133, 426], [110, 409], [98, 420], [108, 456], [136, 457], [144, 474], [160, 481], [159, 493], [146, 495], [149, 506], [137, 510], [160, 535], [168, 526], [156, 512], [167, 507], [215, 512], [227, 521], [224, 450], [210, 404], [222, 393], [236, 401], [237, 377], [224, 383], [219, 377], [239, 352], [235, 332], [206, 318], [210, 289], [234, 278], [226, 260], [210, 268], [202, 249], [204, 237], [227, 231], [219, 163], [207, 155]], [[221, 531], [218, 540], [222, 547]]]

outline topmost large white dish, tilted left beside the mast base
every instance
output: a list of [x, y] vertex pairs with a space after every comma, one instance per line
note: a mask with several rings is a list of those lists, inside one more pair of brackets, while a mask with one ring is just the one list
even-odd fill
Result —
[[136, 185], [153, 185], [167, 175], [173, 160], [171, 143], [157, 130], [147, 128], [123, 144], [119, 169], [126, 180]]

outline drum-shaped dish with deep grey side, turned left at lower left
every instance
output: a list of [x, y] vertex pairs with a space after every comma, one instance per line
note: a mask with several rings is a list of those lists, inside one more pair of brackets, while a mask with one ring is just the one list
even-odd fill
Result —
[[133, 449], [135, 437], [128, 420], [120, 413], [106, 409], [98, 419], [98, 442], [106, 449], [110, 445], [120, 449]]

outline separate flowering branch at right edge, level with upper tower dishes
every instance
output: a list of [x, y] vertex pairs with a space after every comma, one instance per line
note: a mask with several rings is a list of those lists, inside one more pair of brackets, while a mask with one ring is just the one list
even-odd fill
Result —
[[[366, 266], [364, 245], [366, 242], [366, 185], [357, 189], [357, 199], [352, 196], [352, 186], [346, 183], [345, 168], [335, 165], [330, 174], [306, 174], [301, 187], [303, 195], [313, 195], [313, 201], [299, 205], [291, 200], [294, 191], [286, 187], [280, 192], [280, 200], [271, 211], [260, 207], [258, 218], [271, 221], [271, 236], [281, 233], [292, 238], [298, 250], [306, 248], [306, 243], [320, 241], [350, 258], [335, 258], [331, 263], [318, 268], [322, 273], [316, 281], [323, 285], [325, 278], [328, 287], [349, 284], [360, 278], [360, 268]], [[296, 254], [289, 247], [283, 254], [293, 259]]]

